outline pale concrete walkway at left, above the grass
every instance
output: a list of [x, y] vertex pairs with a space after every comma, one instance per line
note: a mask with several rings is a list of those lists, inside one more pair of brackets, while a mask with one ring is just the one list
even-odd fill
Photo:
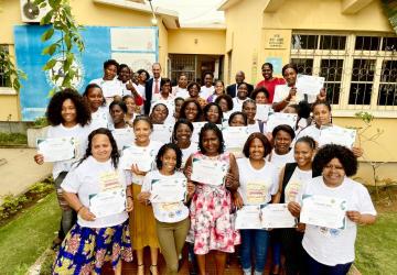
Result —
[[0, 148], [0, 204], [8, 194], [24, 193], [32, 184], [47, 177], [52, 164], [37, 165], [35, 148]]

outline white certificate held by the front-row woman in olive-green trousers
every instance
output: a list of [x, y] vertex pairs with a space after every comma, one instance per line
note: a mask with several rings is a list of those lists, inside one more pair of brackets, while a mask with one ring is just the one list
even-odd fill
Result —
[[151, 202], [179, 202], [185, 199], [186, 178], [153, 179], [151, 183]]

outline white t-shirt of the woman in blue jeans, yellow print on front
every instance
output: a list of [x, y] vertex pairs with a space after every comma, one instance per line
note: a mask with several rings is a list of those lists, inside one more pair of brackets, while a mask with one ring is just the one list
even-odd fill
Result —
[[242, 195], [244, 205], [268, 204], [278, 190], [276, 167], [266, 162], [262, 168], [255, 169], [247, 157], [238, 158], [237, 165], [240, 184], [238, 193]]

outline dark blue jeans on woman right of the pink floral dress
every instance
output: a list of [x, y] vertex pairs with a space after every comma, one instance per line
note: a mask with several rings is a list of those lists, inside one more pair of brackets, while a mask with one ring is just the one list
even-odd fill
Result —
[[251, 268], [251, 253], [255, 258], [255, 271], [264, 272], [269, 246], [269, 232], [260, 229], [240, 230], [242, 234], [242, 266], [243, 270]]

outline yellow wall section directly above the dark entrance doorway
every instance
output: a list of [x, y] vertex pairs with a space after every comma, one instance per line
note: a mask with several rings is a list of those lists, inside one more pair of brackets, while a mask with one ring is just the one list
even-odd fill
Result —
[[168, 41], [170, 54], [224, 55], [226, 30], [169, 30]]

